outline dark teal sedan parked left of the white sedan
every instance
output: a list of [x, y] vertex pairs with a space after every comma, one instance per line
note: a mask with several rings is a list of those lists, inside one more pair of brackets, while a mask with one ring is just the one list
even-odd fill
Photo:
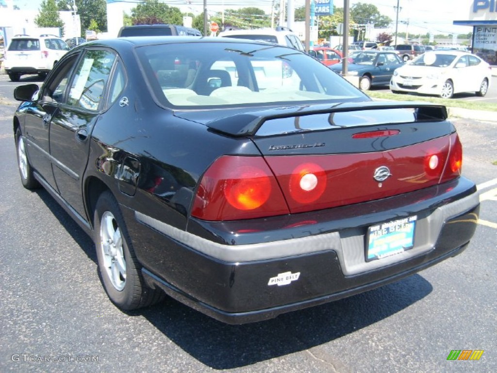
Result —
[[[404, 62], [395, 52], [389, 51], [361, 51], [353, 52], [348, 57], [348, 75], [359, 77], [359, 88], [368, 91], [372, 86], [386, 86], [394, 70], [404, 65]], [[336, 72], [342, 71], [342, 64], [330, 66]]]

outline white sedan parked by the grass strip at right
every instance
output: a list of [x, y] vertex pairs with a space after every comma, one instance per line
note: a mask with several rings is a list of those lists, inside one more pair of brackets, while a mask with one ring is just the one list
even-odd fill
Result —
[[416, 57], [395, 70], [390, 80], [393, 93], [435, 94], [451, 98], [454, 93], [489, 90], [492, 70], [480, 57], [461, 51], [433, 51]]

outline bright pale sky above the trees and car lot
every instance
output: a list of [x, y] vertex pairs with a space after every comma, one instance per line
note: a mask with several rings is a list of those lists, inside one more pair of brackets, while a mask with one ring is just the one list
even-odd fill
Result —
[[[38, 10], [42, 0], [13, 0], [21, 9]], [[126, 0], [130, 7], [136, 0]], [[279, 0], [274, 0], [278, 2]], [[396, 19], [397, 1], [399, 1], [399, 32], [410, 33], [468, 33], [472, 27], [454, 26], [453, 20], [467, 20], [469, 8], [473, 0], [349, 0], [350, 6], [357, 2], [376, 5], [381, 14], [389, 16], [394, 22]], [[195, 14], [203, 10], [203, 0], [166, 0], [170, 6], [180, 7], [186, 11], [188, 8]], [[240, 8], [254, 6], [270, 11], [273, 0], [207, 0], [208, 9], [220, 11], [223, 8]], [[293, 0], [294, 6], [305, 4], [305, 0]], [[343, 7], [343, 0], [334, 0], [334, 6]], [[406, 23], [409, 21], [409, 26]]]

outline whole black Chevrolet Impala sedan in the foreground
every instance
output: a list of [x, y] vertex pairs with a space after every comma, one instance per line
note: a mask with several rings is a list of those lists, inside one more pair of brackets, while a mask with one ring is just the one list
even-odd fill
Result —
[[476, 228], [444, 106], [374, 102], [287, 47], [94, 41], [14, 97], [22, 185], [93, 237], [125, 310], [166, 293], [263, 320], [414, 274]]

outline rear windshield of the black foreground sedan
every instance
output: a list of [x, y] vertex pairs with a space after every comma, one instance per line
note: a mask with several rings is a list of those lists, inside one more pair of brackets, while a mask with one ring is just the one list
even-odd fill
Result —
[[137, 52], [149, 86], [165, 106], [368, 100], [308, 54], [279, 45], [174, 43]]

